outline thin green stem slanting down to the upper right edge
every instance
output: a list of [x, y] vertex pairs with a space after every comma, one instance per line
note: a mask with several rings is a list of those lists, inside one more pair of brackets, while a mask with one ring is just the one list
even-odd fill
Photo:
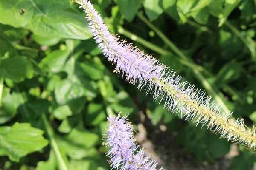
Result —
[[230, 28], [231, 31], [233, 31], [237, 37], [239, 37], [244, 44], [249, 48], [253, 61], [256, 61], [256, 50], [255, 50], [255, 44], [250, 43], [237, 29], [234, 27], [230, 22], [227, 20], [224, 23], [228, 28]]

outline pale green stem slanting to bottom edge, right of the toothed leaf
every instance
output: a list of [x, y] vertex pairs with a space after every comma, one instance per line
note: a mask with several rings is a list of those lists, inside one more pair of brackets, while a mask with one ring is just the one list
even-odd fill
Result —
[[64, 159], [61, 156], [61, 152], [60, 152], [60, 150], [58, 148], [58, 145], [57, 145], [57, 142], [55, 141], [55, 138], [54, 138], [53, 130], [52, 130], [51, 126], [49, 125], [49, 122], [48, 122], [47, 117], [45, 116], [45, 114], [42, 114], [42, 119], [43, 119], [44, 125], [46, 127], [47, 134], [49, 136], [51, 147], [53, 148], [53, 150], [55, 152], [55, 155], [58, 159], [60, 169], [61, 170], [68, 170], [67, 164], [65, 163]]

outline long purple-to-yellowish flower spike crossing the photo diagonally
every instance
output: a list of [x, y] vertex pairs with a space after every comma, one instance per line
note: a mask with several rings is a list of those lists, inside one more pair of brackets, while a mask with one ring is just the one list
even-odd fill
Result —
[[256, 149], [255, 126], [249, 129], [244, 125], [244, 119], [229, 119], [231, 112], [221, 113], [218, 102], [210, 102], [212, 96], [195, 89], [195, 85], [181, 82], [180, 76], [175, 77], [175, 72], [157, 59], [126, 44], [119, 36], [112, 35], [90, 1], [75, 1], [84, 9], [90, 30], [102, 53], [116, 64], [113, 72], [125, 76], [131, 84], [138, 81], [138, 88], [145, 88], [146, 94], [153, 94], [154, 99], [161, 96], [165, 107], [181, 113], [185, 120], [194, 121], [196, 125], [206, 125], [216, 134], [221, 134], [222, 138], [244, 145], [249, 150]]

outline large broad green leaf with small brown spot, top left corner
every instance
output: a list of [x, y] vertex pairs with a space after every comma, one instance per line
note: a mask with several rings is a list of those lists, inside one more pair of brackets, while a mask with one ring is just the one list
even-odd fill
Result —
[[[47, 6], [47, 8], [44, 8]], [[0, 3], [0, 23], [26, 27], [46, 37], [88, 39], [91, 33], [84, 16], [69, 0], [8, 0]]]

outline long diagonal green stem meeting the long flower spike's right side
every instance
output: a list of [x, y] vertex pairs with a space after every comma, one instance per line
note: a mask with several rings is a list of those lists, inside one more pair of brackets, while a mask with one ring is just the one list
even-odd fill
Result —
[[[176, 54], [178, 54], [180, 56], [180, 58], [187, 60], [187, 61], [191, 61], [191, 59], [189, 59], [189, 57], [187, 57], [185, 54], [183, 54], [182, 51], [180, 51], [179, 48], [177, 48], [157, 27], [155, 27], [152, 23], [150, 23], [150, 21], [148, 21], [146, 19], [146, 17], [143, 16], [143, 14], [141, 14], [140, 12], [137, 14], [137, 16], [145, 23], [148, 25], [148, 27], [150, 27], [164, 42], [166, 42], [167, 45], [169, 45], [169, 47], [175, 51]], [[192, 61], [191, 61], [192, 62]], [[194, 68], [192, 69], [195, 77], [199, 80], [199, 82], [202, 83], [202, 85], [204, 86], [204, 88], [207, 90], [207, 92], [209, 94], [211, 94], [215, 100], [217, 100], [221, 106], [222, 109], [224, 110], [224, 112], [228, 111], [229, 109], [227, 108], [227, 106], [224, 104], [224, 102], [222, 101], [221, 97], [219, 94], [221, 94], [220, 92], [216, 92], [214, 88], [212, 88], [212, 86], [209, 84], [209, 82], [207, 81], [207, 79], [201, 74], [200, 70], [198, 70], [198, 68]]]

